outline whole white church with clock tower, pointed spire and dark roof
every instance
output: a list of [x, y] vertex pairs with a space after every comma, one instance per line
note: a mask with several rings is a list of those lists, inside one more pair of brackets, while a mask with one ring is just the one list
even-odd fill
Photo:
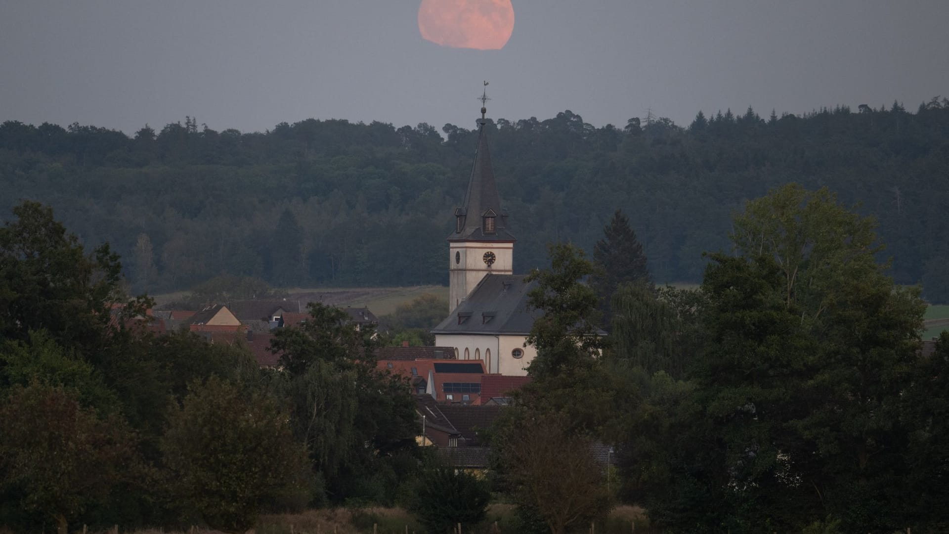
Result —
[[534, 284], [513, 274], [516, 239], [494, 182], [486, 112], [482, 106], [468, 191], [448, 237], [451, 312], [432, 334], [437, 346], [454, 347], [458, 359], [484, 360], [485, 372], [522, 376], [537, 354], [525, 341], [541, 312], [528, 306]]

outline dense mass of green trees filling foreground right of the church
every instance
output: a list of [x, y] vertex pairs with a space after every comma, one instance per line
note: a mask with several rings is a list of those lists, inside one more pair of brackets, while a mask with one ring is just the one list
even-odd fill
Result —
[[[925, 303], [877, 261], [872, 220], [788, 184], [733, 224], [695, 290], [602, 254], [637, 249], [620, 214], [596, 264], [551, 245], [533, 381], [495, 429], [501, 487], [555, 534], [611, 498], [667, 533], [945, 532], [949, 333], [923, 347]], [[597, 271], [604, 337], [581, 282]], [[591, 441], [618, 472], [589, 465]]]

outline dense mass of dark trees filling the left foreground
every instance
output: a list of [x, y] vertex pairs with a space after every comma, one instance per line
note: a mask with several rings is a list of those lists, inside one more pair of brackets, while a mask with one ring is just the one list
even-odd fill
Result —
[[427, 466], [377, 336], [314, 304], [262, 370], [240, 340], [152, 333], [119, 257], [35, 202], [0, 226], [0, 527], [251, 528], [259, 513], [392, 505]]

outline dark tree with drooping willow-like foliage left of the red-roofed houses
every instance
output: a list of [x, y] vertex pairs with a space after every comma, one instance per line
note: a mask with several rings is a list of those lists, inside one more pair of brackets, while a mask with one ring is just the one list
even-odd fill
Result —
[[405, 380], [376, 369], [374, 329], [310, 303], [299, 328], [275, 335], [294, 437], [307, 446], [329, 499], [391, 503], [418, 470], [415, 401]]

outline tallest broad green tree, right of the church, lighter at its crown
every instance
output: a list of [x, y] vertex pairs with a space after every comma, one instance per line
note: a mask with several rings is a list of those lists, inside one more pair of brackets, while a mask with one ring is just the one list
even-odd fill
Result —
[[662, 479], [713, 498], [690, 500], [685, 515], [654, 503], [658, 523], [907, 526], [899, 406], [919, 347], [918, 292], [877, 263], [872, 221], [826, 190], [791, 184], [749, 201], [733, 239], [736, 255], [712, 255], [702, 287], [709, 343], [683, 405], [702, 408], [674, 414], [705, 445], [666, 454], [682, 476]]

